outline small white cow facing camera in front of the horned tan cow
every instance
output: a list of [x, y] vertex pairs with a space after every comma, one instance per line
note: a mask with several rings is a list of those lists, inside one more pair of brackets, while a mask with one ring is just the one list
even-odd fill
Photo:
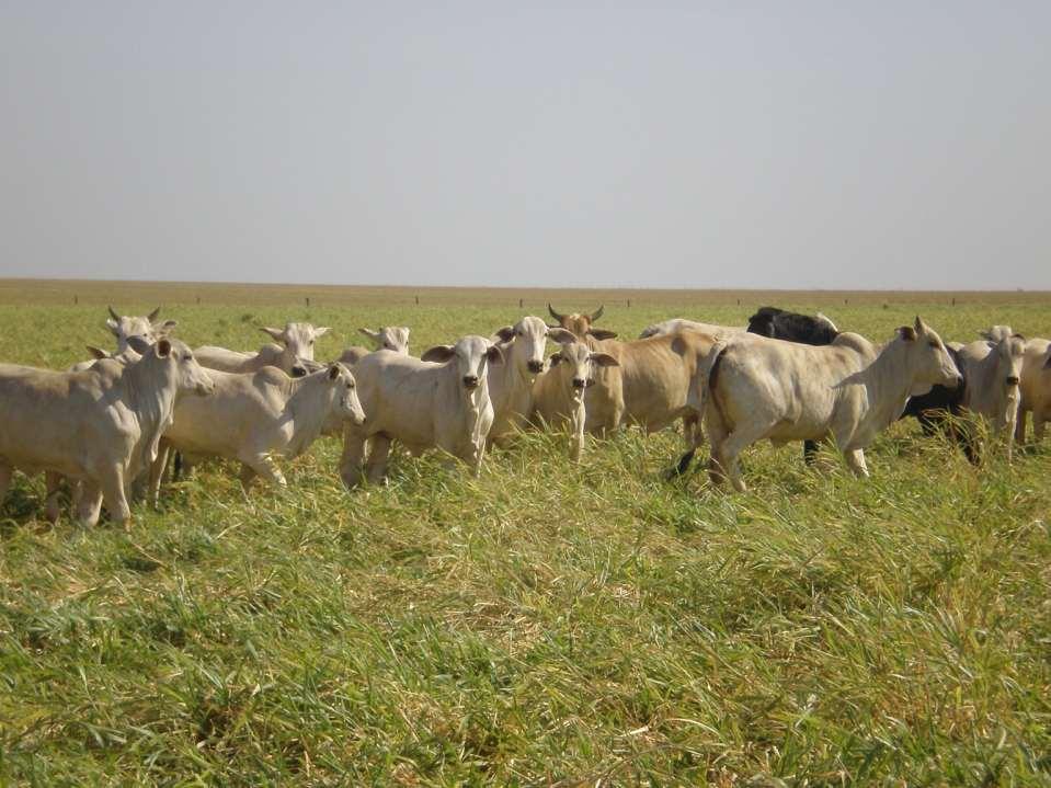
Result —
[[[552, 329], [553, 330], [553, 329]], [[595, 370], [616, 367], [619, 363], [608, 353], [592, 351], [578, 342], [568, 331], [559, 338], [562, 347], [551, 356], [551, 366], [534, 384], [537, 413], [548, 425], [569, 424], [571, 430], [570, 458], [580, 461], [584, 447], [584, 427], [587, 409], [584, 398], [595, 385]]]

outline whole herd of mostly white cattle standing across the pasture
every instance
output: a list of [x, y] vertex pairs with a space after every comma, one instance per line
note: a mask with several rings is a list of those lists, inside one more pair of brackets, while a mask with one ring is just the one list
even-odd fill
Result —
[[[943, 342], [918, 317], [882, 344], [841, 332], [829, 318], [763, 307], [745, 327], [685, 319], [644, 329], [637, 340], [595, 328], [603, 309], [525, 317], [490, 338], [409, 353], [409, 329], [362, 329], [374, 349], [315, 361], [329, 329], [289, 322], [263, 328], [274, 344], [256, 352], [172, 336], [175, 322], [122, 317], [106, 326], [110, 353], [64, 372], [0, 364], [0, 501], [15, 470], [43, 472], [46, 512], [60, 515], [68, 486], [73, 518], [129, 522], [128, 496], [156, 504], [172, 457], [186, 468], [208, 458], [241, 464], [245, 491], [256, 477], [285, 479], [275, 457], [296, 457], [320, 436], [343, 438], [339, 472], [347, 488], [380, 483], [391, 445], [412, 455], [436, 448], [477, 473], [487, 447], [527, 429], [568, 429], [580, 460], [585, 434], [626, 426], [646, 432], [681, 421], [688, 467], [705, 435], [713, 483], [745, 483], [738, 457], [753, 443], [804, 442], [812, 461], [831, 439], [849, 468], [867, 476], [864, 449], [893, 421], [912, 415], [945, 430], [978, 461], [983, 421], [993, 435], [1025, 438], [1032, 414], [1040, 439], [1051, 420], [1048, 340], [995, 326], [968, 344]], [[558, 351], [547, 356], [547, 343]], [[173, 465], [175, 465], [173, 462]]]

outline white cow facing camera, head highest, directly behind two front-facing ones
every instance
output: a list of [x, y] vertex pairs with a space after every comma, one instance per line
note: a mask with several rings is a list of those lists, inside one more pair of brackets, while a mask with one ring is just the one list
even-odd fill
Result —
[[504, 443], [522, 430], [533, 413], [533, 387], [544, 372], [547, 341], [572, 342], [566, 329], [547, 326], [536, 317], [522, 318], [514, 326], [498, 329], [503, 363], [489, 370], [489, 398], [493, 404], [493, 425], [489, 442]]

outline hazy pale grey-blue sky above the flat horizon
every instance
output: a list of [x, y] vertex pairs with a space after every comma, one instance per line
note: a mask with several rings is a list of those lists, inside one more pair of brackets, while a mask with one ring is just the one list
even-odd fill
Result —
[[1046, 0], [0, 0], [0, 275], [1051, 288], [1049, 146]]

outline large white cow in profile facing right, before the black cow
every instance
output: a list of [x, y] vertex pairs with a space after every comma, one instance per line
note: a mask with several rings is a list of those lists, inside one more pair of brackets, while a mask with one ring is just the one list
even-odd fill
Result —
[[882, 347], [853, 333], [824, 346], [747, 334], [720, 344], [705, 403], [710, 473], [713, 483], [729, 477], [742, 492], [738, 456], [764, 438], [831, 436], [847, 466], [868, 476], [864, 449], [898, 419], [907, 397], [960, 380], [941, 339], [918, 317]]

